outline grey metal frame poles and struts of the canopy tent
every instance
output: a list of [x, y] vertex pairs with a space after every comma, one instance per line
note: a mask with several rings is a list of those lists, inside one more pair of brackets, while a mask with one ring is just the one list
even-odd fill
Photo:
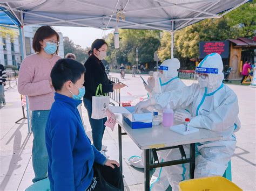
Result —
[[[102, 29], [102, 30], [111, 30], [113, 29], [112, 27], [108, 27], [111, 20], [115, 20], [117, 22], [122, 22], [122, 23], [127, 23], [127, 25], [125, 26], [120, 26], [119, 28], [120, 29], [123, 29], [123, 28], [127, 28], [127, 27], [134, 27], [134, 26], [143, 26], [143, 27], [146, 27], [148, 29], [153, 29], [153, 30], [163, 30], [163, 31], [168, 31], [171, 33], [171, 58], [173, 58], [173, 49], [174, 49], [174, 33], [183, 28], [184, 26], [186, 26], [187, 24], [189, 24], [190, 22], [192, 22], [193, 20], [203, 20], [203, 19], [211, 19], [211, 18], [221, 18], [223, 17], [224, 15], [226, 15], [228, 12], [231, 12], [232, 10], [238, 8], [239, 6], [241, 6], [242, 4], [245, 4], [248, 2], [248, 0], [244, 0], [243, 2], [241, 2], [240, 4], [234, 6], [232, 9], [230, 10], [227, 10], [225, 11], [224, 13], [220, 13], [220, 14], [214, 14], [214, 13], [211, 13], [211, 12], [207, 12], [207, 10], [211, 9], [213, 6], [217, 5], [220, 0], [205, 0], [207, 2], [213, 2], [212, 5], [208, 6], [205, 10], [196, 10], [196, 9], [192, 9], [192, 8], [188, 8], [187, 6], [185, 5], [189, 5], [189, 4], [194, 4], [194, 3], [201, 3], [203, 2], [203, 0], [198, 0], [198, 1], [195, 1], [195, 2], [187, 2], [187, 3], [177, 3], [177, 4], [174, 4], [174, 3], [171, 3], [171, 2], [166, 2], [166, 1], [163, 1], [163, 0], [156, 0], [156, 2], [158, 3], [163, 3], [165, 5], [160, 5], [159, 6], [153, 6], [153, 7], [150, 7], [150, 8], [143, 8], [143, 9], [133, 9], [133, 10], [129, 10], [129, 11], [125, 11], [126, 9], [126, 6], [127, 4], [129, 4], [129, 1], [130, 0], [127, 0], [126, 1], [126, 4], [124, 6], [124, 9], [123, 11], [124, 12], [136, 12], [136, 11], [145, 11], [145, 10], [156, 10], [156, 9], [164, 9], [164, 8], [170, 8], [172, 6], [177, 6], [179, 8], [183, 8], [183, 9], [186, 9], [186, 10], [191, 10], [191, 11], [195, 11], [195, 12], [198, 12], [198, 14], [195, 16], [195, 17], [191, 17], [191, 18], [180, 18], [180, 19], [165, 19], [165, 20], [161, 20], [161, 21], [158, 21], [158, 22], [150, 22], [150, 23], [136, 23], [136, 22], [130, 22], [128, 20], [117, 20], [116, 18], [114, 18], [113, 16], [116, 15], [117, 13], [117, 6], [118, 6], [118, 3], [120, 0], [117, 0], [117, 3], [116, 3], [116, 6], [114, 8], [110, 7], [110, 6], [106, 6], [106, 5], [100, 5], [100, 4], [97, 4], [97, 3], [93, 3], [93, 2], [89, 2], [89, 1], [83, 1], [83, 0], [75, 0], [76, 3], [79, 3], [79, 4], [85, 4], [85, 5], [91, 5], [91, 6], [96, 6], [100, 9], [107, 9], [107, 10], [111, 10], [112, 11], [112, 14], [111, 15], [108, 15], [108, 16], [101, 16], [101, 17], [91, 17], [91, 18], [80, 18], [80, 19], [71, 19], [71, 20], [65, 20], [65, 19], [59, 19], [59, 18], [56, 18], [56, 17], [50, 17], [50, 16], [45, 16], [45, 15], [41, 15], [41, 14], [38, 14], [38, 13], [31, 13], [31, 12], [25, 12], [25, 11], [22, 11], [22, 10], [18, 10], [18, 8], [21, 8], [22, 6], [25, 6], [25, 5], [22, 5], [22, 6], [18, 6], [16, 8], [12, 8], [10, 6], [9, 3], [11, 2], [16, 2], [17, 0], [0, 0], [0, 6], [2, 6], [3, 8], [5, 8], [6, 10], [4, 11], [0, 11], [0, 12], [5, 12], [5, 11], [11, 11], [11, 13], [15, 16], [15, 18], [17, 19], [17, 21], [19, 22], [20, 26], [17, 26], [15, 24], [15, 22], [12, 20], [12, 22], [16, 25], [17, 28], [15, 29], [18, 29], [19, 30], [19, 38], [20, 38], [20, 41], [21, 41], [21, 53], [22, 53], [22, 60], [25, 58], [25, 55], [26, 55], [26, 49], [25, 49], [25, 36], [24, 36], [24, 29], [23, 29], [23, 26], [29, 26], [29, 25], [51, 25], [51, 24], [60, 24], [61, 26], [61, 23], [69, 23], [69, 24], [74, 24], [74, 25], [77, 25], [77, 26], [83, 26], [83, 27], [93, 27], [95, 29]], [[45, 3], [47, 0], [43, 0], [41, 4]], [[1, 3], [6, 3], [6, 5], [3, 5]], [[28, 4], [30, 4], [32, 2], [28, 2]], [[38, 6], [38, 5], [37, 5]], [[20, 14], [20, 18], [17, 16], [16, 12], [19, 12]], [[23, 13], [25, 14], [28, 14], [28, 15], [32, 15], [32, 16], [37, 16], [37, 17], [43, 17], [43, 18], [49, 18], [49, 19], [52, 19], [52, 20], [55, 20], [55, 21], [52, 21], [52, 22], [41, 22], [41, 23], [32, 23], [32, 24], [24, 24], [24, 20], [23, 20]], [[200, 17], [201, 14], [205, 14], [205, 15], [208, 15], [206, 17]], [[95, 27], [95, 26], [90, 26], [90, 25], [85, 25], [85, 24], [81, 24], [81, 23], [78, 23], [80, 21], [84, 21], [84, 20], [95, 20], [95, 19], [109, 19], [109, 21], [107, 22], [107, 25], [104, 27], [104, 28], [101, 28], [101, 27]], [[185, 23], [181, 24], [177, 29], [174, 30], [174, 24], [176, 21], [180, 21], [180, 20], [184, 20], [186, 21]], [[170, 22], [171, 24], [171, 30], [169, 29], [166, 29], [164, 27], [154, 27], [154, 26], [149, 26], [150, 24], [156, 24], [156, 23], [166, 23], [166, 22]], [[10, 27], [10, 26], [7, 26], [7, 27]], [[30, 132], [30, 129], [31, 129], [31, 120], [30, 120], [30, 110], [29, 110], [29, 103], [28, 103], [28, 96], [26, 96], [26, 109], [27, 109], [27, 116], [28, 116], [28, 132]]]

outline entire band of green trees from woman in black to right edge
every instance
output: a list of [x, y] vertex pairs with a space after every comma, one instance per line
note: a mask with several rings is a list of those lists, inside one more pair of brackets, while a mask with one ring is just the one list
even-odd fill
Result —
[[[178, 58], [183, 69], [193, 69], [191, 58], [199, 56], [200, 41], [221, 41], [232, 38], [255, 36], [256, 0], [246, 3], [227, 13], [223, 18], [206, 19], [174, 35], [174, 57]], [[161, 61], [171, 58], [171, 33], [152, 30], [119, 30], [120, 48], [114, 49], [114, 36], [106, 38], [109, 44], [106, 61], [113, 65], [136, 63], [138, 47], [139, 63], [150, 63], [153, 67], [153, 54], [158, 50]]]

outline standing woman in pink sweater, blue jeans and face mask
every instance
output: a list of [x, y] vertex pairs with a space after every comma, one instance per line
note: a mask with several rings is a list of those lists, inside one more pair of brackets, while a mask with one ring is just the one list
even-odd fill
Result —
[[32, 164], [35, 172], [33, 182], [47, 177], [48, 154], [45, 146], [45, 126], [53, 103], [51, 69], [60, 59], [59, 35], [50, 26], [41, 26], [33, 38], [35, 54], [27, 56], [19, 69], [18, 91], [28, 95], [32, 111]]

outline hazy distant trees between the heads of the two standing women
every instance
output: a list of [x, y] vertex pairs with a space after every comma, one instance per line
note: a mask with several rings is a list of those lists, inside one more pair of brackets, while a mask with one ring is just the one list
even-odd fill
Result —
[[88, 58], [88, 49], [82, 48], [80, 45], [76, 45], [72, 40], [64, 38], [64, 54], [73, 53], [76, 55], [78, 62], [84, 63]]

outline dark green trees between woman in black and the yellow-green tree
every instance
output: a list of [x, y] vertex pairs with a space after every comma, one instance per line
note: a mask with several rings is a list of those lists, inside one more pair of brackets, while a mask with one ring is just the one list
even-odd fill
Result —
[[119, 30], [119, 49], [114, 49], [114, 36], [110, 33], [106, 41], [109, 44], [106, 61], [112, 65], [133, 65], [136, 63], [138, 48], [139, 63], [154, 63], [154, 52], [160, 46], [160, 31]]

